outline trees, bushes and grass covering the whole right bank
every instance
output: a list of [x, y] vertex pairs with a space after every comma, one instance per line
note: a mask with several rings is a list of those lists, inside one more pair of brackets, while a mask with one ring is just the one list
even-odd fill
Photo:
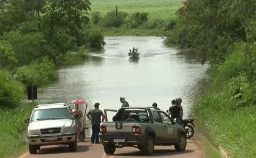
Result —
[[212, 84], [193, 114], [232, 157], [256, 155], [255, 10], [252, 0], [191, 0], [165, 40], [195, 49], [202, 64], [209, 61]]

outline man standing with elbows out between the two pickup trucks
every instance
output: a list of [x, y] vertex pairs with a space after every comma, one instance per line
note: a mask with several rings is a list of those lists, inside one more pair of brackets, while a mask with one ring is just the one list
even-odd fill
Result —
[[[91, 120], [92, 124], [92, 137], [91, 137], [91, 143], [100, 143], [99, 142], [99, 132], [100, 132], [100, 122], [103, 122], [105, 119], [105, 115], [103, 112], [99, 109], [100, 103], [94, 104], [94, 109], [91, 109], [87, 114], [87, 118]], [[101, 119], [102, 117], [102, 119]], [[100, 120], [101, 119], [101, 120]]]

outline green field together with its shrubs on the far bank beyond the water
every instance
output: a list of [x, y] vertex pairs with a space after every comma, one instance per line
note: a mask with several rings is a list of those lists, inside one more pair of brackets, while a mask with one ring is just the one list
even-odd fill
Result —
[[178, 0], [94, 0], [90, 17], [104, 35], [165, 35], [181, 6]]

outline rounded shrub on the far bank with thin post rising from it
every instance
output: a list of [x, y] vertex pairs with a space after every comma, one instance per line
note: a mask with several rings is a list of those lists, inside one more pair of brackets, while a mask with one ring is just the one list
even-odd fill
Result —
[[125, 21], [127, 15], [128, 14], [126, 12], [120, 11], [116, 14], [116, 10], [112, 10], [111, 12], [108, 12], [105, 16], [103, 16], [100, 24], [106, 28], [120, 27]]

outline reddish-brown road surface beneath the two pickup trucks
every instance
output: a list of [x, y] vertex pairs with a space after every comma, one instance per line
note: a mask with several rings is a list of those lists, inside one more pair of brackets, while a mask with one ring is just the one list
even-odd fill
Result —
[[67, 157], [92, 157], [92, 158], [105, 158], [105, 157], [204, 157], [202, 148], [199, 146], [198, 137], [195, 139], [187, 140], [187, 148], [184, 152], [176, 152], [174, 146], [155, 146], [155, 151], [151, 156], [144, 156], [139, 149], [136, 148], [119, 148], [112, 156], [107, 156], [104, 153], [101, 144], [91, 144], [90, 142], [78, 143], [77, 152], [70, 153], [67, 146], [43, 146], [37, 154], [30, 155], [29, 151], [19, 156], [19, 158], [32, 158], [32, 157], [54, 157], [54, 158], [67, 158]]

